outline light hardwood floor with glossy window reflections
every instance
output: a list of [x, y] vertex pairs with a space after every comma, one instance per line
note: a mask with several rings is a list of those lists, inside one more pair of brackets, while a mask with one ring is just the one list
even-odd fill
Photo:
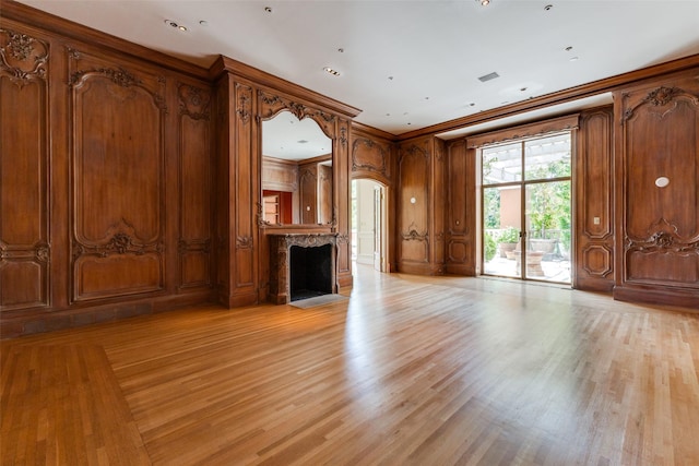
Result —
[[699, 315], [360, 267], [1, 344], [2, 465], [697, 465]]

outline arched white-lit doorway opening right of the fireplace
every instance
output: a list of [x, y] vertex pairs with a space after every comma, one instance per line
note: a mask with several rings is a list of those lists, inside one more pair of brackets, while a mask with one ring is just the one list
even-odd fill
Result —
[[388, 271], [386, 187], [370, 179], [352, 180], [352, 260]]

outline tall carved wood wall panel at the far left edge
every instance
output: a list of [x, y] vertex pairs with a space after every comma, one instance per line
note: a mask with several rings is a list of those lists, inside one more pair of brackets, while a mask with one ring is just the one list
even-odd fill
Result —
[[0, 25], [0, 310], [50, 304], [50, 46]]

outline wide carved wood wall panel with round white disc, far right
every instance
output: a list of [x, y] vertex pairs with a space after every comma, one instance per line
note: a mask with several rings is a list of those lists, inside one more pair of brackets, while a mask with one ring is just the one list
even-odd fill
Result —
[[[699, 70], [615, 94], [614, 296], [699, 306]], [[661, 178], [667, 186], [657, 186]]]

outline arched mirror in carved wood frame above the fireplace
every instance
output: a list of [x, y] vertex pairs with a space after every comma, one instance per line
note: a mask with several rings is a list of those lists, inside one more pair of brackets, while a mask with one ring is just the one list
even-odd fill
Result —
[[271, 117], [262, 118], [261, 124], [261, 226], [332, 226], [335, 222], [333, 140], [319, 126], [317, 113], [298, 109], [282, 106], [262, 113]]

